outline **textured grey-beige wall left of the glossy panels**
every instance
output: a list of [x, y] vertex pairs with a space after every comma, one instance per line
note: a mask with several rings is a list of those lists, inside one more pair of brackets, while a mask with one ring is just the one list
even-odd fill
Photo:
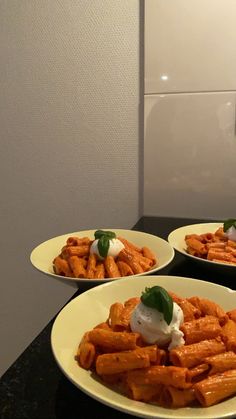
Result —
[[50, 237], [140, 215], [138, 0], [0, 1], [0, 374], [74, 293]]

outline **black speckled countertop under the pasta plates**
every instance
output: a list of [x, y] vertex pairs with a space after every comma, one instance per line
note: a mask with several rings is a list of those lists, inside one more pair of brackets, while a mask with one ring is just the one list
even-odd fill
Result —
[[[142, 217], [133, 227], [167, 239], [183, 225], [201, 220]], [[204, 222], [204, 220], [202, 220]], [[235, 289], [235, 275], [201, 267], [175, 253], [174, 260], [158, 275], [197, 278]], [[85, 285], [73, 298], [86, 291]], [[55, 313], [55, 316], [57, 313]], [[55, 318], [54, 318], [55, 319]], [[51, 351], [50, 335], [54, 319], [20, 355], [0, 380], [1, 419], [125, 419], [132, 416], [107, 407], [75, 387], [60, 371]]]

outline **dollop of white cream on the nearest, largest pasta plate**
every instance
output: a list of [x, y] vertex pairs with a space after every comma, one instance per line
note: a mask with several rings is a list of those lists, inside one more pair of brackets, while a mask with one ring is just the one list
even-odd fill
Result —
[[168, 325], [163, 313], [141, 302], [133, 310], [130, 327], [132, 332], [140, 333], [146, 343], [159, 346], [169, 343], [168, 350], [170, 350], [185, 343], [184, 334], [179, 329], [183, 320], [183, 311], [176, 303], [173, 303], [173, 317]]

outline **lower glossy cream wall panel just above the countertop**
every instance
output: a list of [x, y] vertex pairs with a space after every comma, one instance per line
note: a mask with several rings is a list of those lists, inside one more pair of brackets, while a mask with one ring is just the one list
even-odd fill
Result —
[[235, 217], [235, 93], [145, 96], [144, 214]]

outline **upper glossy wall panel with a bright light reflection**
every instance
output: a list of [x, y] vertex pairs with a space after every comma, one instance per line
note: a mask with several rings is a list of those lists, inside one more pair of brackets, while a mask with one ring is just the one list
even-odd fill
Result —
[[235, 90], [235, 0], [145, 1], [145, 93]]

